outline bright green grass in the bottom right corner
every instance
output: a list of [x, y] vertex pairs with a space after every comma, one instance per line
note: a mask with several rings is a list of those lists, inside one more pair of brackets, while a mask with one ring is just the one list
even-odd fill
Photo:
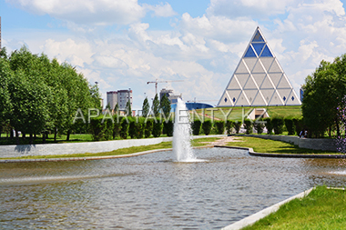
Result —
[[254, 225], [255, 229], [345, 229], [346, 192], [318, 186], [302, 199], [294, 199]]

